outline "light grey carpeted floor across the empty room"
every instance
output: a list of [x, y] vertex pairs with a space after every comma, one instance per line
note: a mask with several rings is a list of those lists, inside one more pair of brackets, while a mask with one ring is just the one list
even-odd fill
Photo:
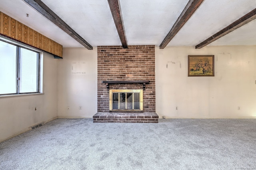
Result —
[[254, 170], [256, 119], [56, 119], [0, 143], [0, 170]]

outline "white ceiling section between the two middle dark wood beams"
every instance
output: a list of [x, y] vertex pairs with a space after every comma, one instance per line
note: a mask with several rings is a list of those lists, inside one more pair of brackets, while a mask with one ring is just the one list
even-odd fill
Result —
[[160, 45], [188, 0], [120, 0], [128, 45]]

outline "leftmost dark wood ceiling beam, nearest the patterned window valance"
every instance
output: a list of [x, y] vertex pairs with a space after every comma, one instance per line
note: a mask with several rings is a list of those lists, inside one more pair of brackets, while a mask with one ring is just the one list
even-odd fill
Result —
[[92, 49], [92, 45], [90, 45], [86, 40], [84, 40], [81, 36], [79, 36], [66, 22], [64, 22], [57, 14], [55, 14], [46, 4], [44, 4], [41, 0], [24, 0], [27, 4], [32, 6], [35, 10], [37, 10], [40, 14], [46, 17], [48, 20], [53, 22], [56, 26], [74, 38], [77, 42], [82, 44], [87, 49]]

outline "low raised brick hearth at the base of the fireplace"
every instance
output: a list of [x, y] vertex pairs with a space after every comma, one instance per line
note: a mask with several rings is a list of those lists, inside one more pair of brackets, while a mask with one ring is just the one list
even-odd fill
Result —
[[158, 123], [158, 115], [152, 112], [116, 113], [98, 112], [93, 116], [94, 123]]

